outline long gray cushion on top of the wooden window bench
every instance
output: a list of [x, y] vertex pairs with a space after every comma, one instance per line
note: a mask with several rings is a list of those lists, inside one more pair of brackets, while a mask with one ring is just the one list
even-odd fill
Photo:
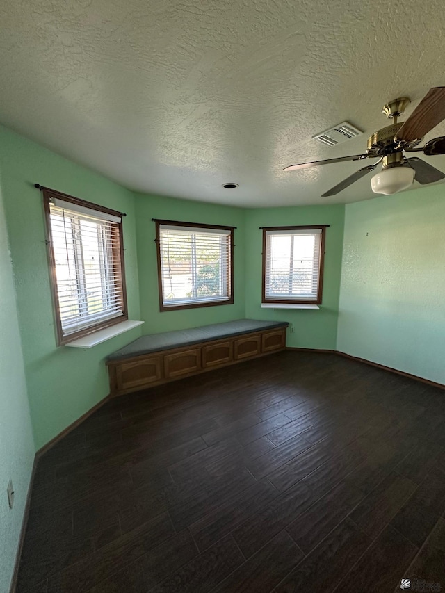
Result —
[[242, 334], [250, 334], [251, 332], [273, 330], [275, 327], [287, 327], [287, 325], [289, 325], [287, 321], [238, 319], [236, 321], [227, 321], [227, 323], [193, 327], [190, 330], [151, 334], [149, 336], [142, 336], [127, 346], [124, 346], [124, 348], [116, 350], [111, 355], [108, 355], [106, 360], [120, 360], [148, 354], [149, 352], [159, 352], [159, 350], [170, 350], [171, 348], [181, 348], [182, 346], [191, 346], [200, 342], [241, 336]]

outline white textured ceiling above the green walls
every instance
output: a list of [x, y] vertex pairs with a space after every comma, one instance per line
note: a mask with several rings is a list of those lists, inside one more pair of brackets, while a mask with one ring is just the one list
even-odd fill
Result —
[[[3, 0], [1, 13], [0, 121], [146, 193], [364, 200], [369, 177], [320, 197], [362, 163], [282, 168], [363, 152], [385, 102], [410, 97], [409, 115], [445, 84], [440, 0]], [[344, 120], [364, 136], [312, 140]]]

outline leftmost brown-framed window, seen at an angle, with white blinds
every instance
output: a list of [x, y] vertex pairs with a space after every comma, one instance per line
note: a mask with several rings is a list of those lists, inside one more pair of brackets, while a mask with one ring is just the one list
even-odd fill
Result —
[[60, 345], [128, 318], [122, 214], [42, 190]]

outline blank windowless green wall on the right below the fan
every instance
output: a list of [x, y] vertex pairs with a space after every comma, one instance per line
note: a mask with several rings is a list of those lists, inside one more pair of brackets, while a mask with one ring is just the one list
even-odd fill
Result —
[[337, 348], [445, 383], [445, 192], [346, 206]]

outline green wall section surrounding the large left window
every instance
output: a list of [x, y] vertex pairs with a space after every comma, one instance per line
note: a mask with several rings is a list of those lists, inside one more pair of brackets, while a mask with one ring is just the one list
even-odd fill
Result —
[[140, 336], [136, 328], [90, 350], [57, 348], [44, 244], [43, 186], [127, 213], [124, 218], [129, 318], [139, 318], [135, 198], [108, 179], [0, 128], [3, 200], [35, 447], [40, 448], [108, 392], [104, 357]]

